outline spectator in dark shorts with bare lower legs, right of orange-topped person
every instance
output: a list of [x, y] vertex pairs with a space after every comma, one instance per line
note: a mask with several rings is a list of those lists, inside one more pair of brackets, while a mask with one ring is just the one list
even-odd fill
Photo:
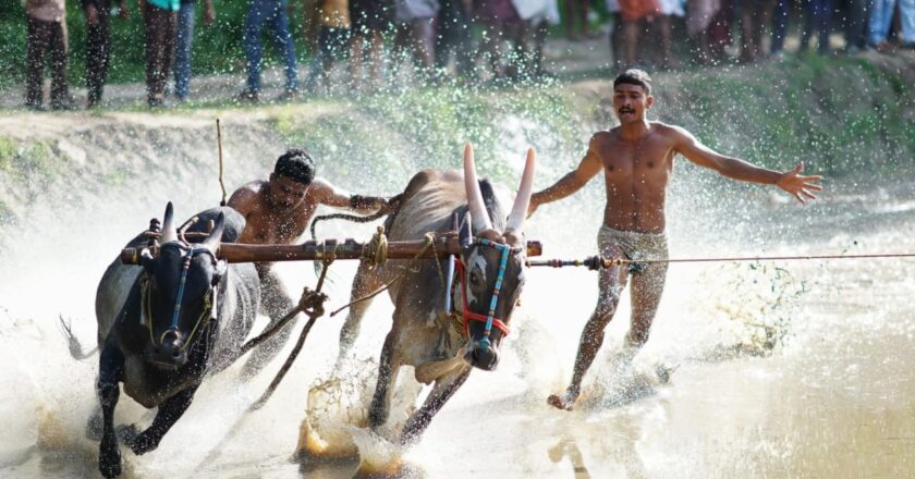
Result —
[[358, 88], [362, 82], [362, 66], [366, 52], [370, 62], [369, 86], [375, 89], [381, 84], [383, 35], [391, 29], [393, 19], [392, 0], [350, 0], [350, 23], [353, 35], [350, 76], [354, 88]]

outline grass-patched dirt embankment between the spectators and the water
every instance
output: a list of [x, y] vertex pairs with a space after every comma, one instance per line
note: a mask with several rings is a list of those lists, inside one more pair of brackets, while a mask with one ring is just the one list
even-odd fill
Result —
[[[915, 56], [791, 60], [659, 74], [655, 83], [655, 112], [661, 120], [701, 132], [712, 146], [764, 164], [781, 167], [783, 157], [801, 156], [841, 171], [844, 157], [892, 158], [898, 164], [915, 157]], [[0, 118], [0, 248], [9, 232], [41, 211], [39, 217], [53, 218], [97, 205], [133, 208], [163, 198], [194, 202], [199, 196], [211, 198], [208, 204], [218, 200], [216, 118], [222, 121], [231, 193], [265, 176], [286, 144], [318, 150], [325, 172], [345, 167], [346, 180], [357, 182], [363, 165], [385, 170], [378, 160], [392, 156], [428, 152], [407, 162], [392, 160], [400, 161], [396, 170], [387, 167], [392, 173], [414, 164], [437, 165], [431, 157], [448, 149], [435, 148], [436, 143], [451, 148], [471, 139], [503, 147], [505, 131], [513, 128], [503, 120], [513, 115], [521, 119], [517, 130], [527, 130], [512, 140], [561, 157], [565, 168], [588, 132], [612, 124], [611, 94], [612, 84], [603, 78], [496, 94], [442, 88], [387, 96], [380, 102], [12, 113]], [[526, 126], [532, 122], [537, 127]], [[394, 147], [395, 155], [380, 155]]]

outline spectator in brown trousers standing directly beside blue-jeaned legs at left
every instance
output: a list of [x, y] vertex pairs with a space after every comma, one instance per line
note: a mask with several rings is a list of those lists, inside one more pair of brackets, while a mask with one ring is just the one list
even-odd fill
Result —
[[146, 101], [149, 108], [166, 103], [166, 82], [174, 56], [174, 29], [178, 25], [179, 0], [144, 0], [143, 23], [146, 25]]

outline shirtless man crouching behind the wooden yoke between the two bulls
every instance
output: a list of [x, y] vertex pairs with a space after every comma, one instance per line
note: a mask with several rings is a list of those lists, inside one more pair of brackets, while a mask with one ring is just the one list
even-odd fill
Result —
[[[315, 162], [304, 150], [290, 149], [278, 160], [270, 179], [256, 180], [240, 187], [229, 198], [229, 206], [247, 220], [239, 243], [292, 244], [308, 224], [318, 205], [349, 208], [371, 213], [388, 208], [388, 201], [373, 196], [349, 195], [325, 180], [315, 177]], [[278, 322], [296, 304], [290, 298], [272, 263], [256, 263], [260, 275], [263, 311], [270, 326]], [[285, 344], [292, 332], [290, 322], [277, 335], [257, 348], [245, 364], [244, 376], [260, 370]], [[269, 328], [269, 327], [268, 327]]]

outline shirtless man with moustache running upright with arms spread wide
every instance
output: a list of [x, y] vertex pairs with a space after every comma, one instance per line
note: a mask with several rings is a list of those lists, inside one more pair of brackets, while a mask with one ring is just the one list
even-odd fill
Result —
[[[540, 205], [572, 195], [602, 171], [607, 205], [603, 225], [597, 236], [600, 254], [609, 258], [664, 259], [668, 257], [664, 197], [676, 155], [734, 180], [776, 185], [801, 202], [815, 199], [813, 192], [822, 189], [816, 184], [820, 176], [801, 175], [803, 163], [788, 172], [755, 167], [712, 151], [679, 126], [646, 120], [646, 112], [655, 101], [650, 81], [640, 70], [629, 70], [617, 77], [613, 109], [620, 125], [591, 136], [588, 151], [578, 167], [552, 186], [534, 194], [530, 213]], [[603, 329], [613, 318], [630, 275], [632, 326], [626, 335], [627, 357], [648, 341], [663, 292], [667, 263], [635, 263], [600, 270], [597, 308], [582, 332], [572, 382], [565, 394], [553, 394], [547, 400], [552, 406], [572, 409], [575, 405], [582, 378], [603, 343]]]

